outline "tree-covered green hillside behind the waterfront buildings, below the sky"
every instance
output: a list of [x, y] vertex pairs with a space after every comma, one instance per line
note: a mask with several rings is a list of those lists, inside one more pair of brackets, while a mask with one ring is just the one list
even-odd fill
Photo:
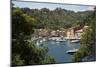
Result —
[[[65, 10], [62, 8], [56, 8], [55, 10], [49, 10], [47, 8], [42, 9], [29, 9], [21, 8], [25, 14], [28, 14], [37, 19], [35, 28], [47, 28], [57, 30], [60, 28], [70, 28], [75, 25], [84, 26], [88, 14], [92, 14], [93, 11], [74, 12]], [[89, 22], [88, 22], [89, 23]]]

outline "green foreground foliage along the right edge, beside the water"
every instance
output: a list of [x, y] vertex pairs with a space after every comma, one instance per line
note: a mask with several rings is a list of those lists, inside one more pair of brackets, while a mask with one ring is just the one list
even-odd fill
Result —
[[81, 61], [85, 56], [95, 55], [95, 36], [91, 28], [87, 28], [81, 37], [81, 48], [77, 53], [74, 54], [73, 61]]

